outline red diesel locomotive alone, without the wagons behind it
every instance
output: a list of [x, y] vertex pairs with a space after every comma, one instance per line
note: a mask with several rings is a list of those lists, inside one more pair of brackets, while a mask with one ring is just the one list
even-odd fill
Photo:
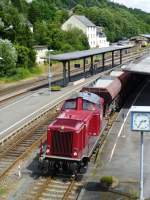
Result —
[[87, 92], [65, 101], [60, 115], [48, 126], [46, 152], [42, 152], [50, 167], [75, 171], [87, 164], [104, 126], [103, 106], [103, 98]]

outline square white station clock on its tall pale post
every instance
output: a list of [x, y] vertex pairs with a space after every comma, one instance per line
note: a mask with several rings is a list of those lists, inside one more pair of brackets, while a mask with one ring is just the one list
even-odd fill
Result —
[[131, 107], [131, 130], [141, 133], [141, 149], [140, 149], [140, 200], [143, 197], [143, 160], [144, 160], [144, 132], [150, 132], [150, 107], [148, 106], [132, 106]]

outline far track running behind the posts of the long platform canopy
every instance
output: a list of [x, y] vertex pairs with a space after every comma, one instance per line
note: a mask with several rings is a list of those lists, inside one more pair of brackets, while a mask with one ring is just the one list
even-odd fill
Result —
[[[145, 50], [142, 50], [140, 52], [132, 52], [129, 54], [124, 54], [122, 57], [123, 62], [129, 62], [131, 60], [137, 59], [140, 56], [142, 56], [145, 53]], [[119, 64], [120, 61], [120, 56], [117, 54], [115, 55], [115, 63]], [[105, 67], [110, 65], [111, 59], [109, 56], [105, 58]], [[102, 61], [99, 61], [98, 63], [95, 63], [98, 68], [102, 67]], [[88, 71], [90, 68], [90, 65], [86, 65], [85, 70]], [[83, 69], [74, 69], [71, 67], [71, 76], [75, 75], [81, 75], [83, 73]], [[5, 88], [3, 90], [0, 90], [1, 97], [0, 97], [0, 104], [4, 104], [5, 102], [18, 97], [20, 95], [23, 95], [31, 90], [37, 90], [43, 86], [46, 86], [48, 84], [47, 77], [41, 78], [42, 80], [36, 80], [35, 82], [29, 82], [29, 83], [24, 83], [22, 85], [17, 85], [14, 87], [10, 88]], [[56, 74], [53, 75], [52, 77], [52, 82], [57, 83], [58, 81], [61, 81], [62, 79], [62, 72], [57, 72]]]

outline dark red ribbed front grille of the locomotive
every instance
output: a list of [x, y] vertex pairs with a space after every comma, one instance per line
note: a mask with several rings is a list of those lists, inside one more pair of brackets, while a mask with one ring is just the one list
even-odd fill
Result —
[[59, 156], [71, 156], [73, 133], [53, 132], [52, 134], [52, 154]]

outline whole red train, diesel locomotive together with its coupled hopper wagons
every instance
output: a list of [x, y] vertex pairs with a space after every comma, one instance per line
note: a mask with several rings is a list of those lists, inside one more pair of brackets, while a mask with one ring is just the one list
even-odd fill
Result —
[[105, 127], [103, 115], [122, 103], [122, 98], [134, 85], [133, 80], [136, 81], [133, 76], [127, 72], [115, 72], [112, 76], [97, 79], [67, 99], [58, 117], [48, 126], [40, 160], [57, 170], [75, 172], [85, 166]]

